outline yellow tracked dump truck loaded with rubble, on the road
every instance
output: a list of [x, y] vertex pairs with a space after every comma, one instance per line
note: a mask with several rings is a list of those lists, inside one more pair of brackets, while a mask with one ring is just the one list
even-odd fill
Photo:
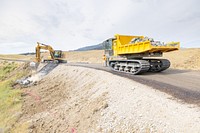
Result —
[[[164, 52], [179, 50], [180, 42], [162, 43], [144, 36], [115, 35], [103, 42], [108, 65], [114, 71], [130, 74], [161, 72], [170, 67]], [[153, 57], [153, 58], [151, 58]]]

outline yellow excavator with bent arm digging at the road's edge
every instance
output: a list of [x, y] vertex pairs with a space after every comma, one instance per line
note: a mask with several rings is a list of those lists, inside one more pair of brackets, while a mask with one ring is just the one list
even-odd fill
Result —
[[43, 59], [43, 62], [67, 63], [67, 61], [64, 59], [63, 51], [54, 50], [50, 45], [37, 42], [37, 46], [35, 48], [36, 51], [35, 61], [30, 63], [32, 69], [37, 69], [39, 63], [42, 61], [40, 53], [41, 49], [48, 50], [50, 53], [50, 58]]

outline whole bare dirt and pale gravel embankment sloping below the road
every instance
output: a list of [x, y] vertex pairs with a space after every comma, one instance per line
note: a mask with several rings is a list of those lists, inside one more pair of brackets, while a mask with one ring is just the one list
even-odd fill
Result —
[[59, 65], [25, 88], [15, 132], [199, 132], [200, 110], [113, 74]]

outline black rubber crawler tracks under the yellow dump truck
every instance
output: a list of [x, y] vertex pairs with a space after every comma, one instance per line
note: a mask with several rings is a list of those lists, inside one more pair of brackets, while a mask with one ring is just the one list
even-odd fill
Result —
[[114, 71], [136, 75], [164, 71], [170, 67], [170, 62], [167, 59], [112, 60], [109, 67]]

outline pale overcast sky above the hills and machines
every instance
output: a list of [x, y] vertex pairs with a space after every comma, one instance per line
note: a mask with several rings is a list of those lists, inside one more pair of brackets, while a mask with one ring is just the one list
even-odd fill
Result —
[[73, 50], [114, 34], [200, 47], [199, 0], [0, 0], [0, 53]]

